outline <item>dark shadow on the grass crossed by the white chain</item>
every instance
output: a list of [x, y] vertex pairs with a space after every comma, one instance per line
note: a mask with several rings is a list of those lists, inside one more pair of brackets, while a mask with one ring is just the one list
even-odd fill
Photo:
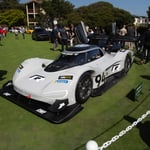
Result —
[[[130, 116], [124, 116], [124, 119], [130, 123], [136, 121], [135, 118]], [[150, 147], [150, 121], [145, 121], [144, 123], [138, 123], [136, 126], [139, 129], [139, 134], [142, 140]]]

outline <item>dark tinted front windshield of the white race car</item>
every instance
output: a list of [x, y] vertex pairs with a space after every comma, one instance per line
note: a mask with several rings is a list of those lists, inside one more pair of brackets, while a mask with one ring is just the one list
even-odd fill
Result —
[[55, 72], [82, 65], [85, 63], [85, 58], [85, 53], [61, 54], [58, 59], [45, 68], [45, 71]]

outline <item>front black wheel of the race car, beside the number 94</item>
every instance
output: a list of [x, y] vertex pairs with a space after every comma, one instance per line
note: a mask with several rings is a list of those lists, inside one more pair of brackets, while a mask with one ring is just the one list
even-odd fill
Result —
[[85, 103], [92, 93], [93, 82], [90, 73], [84, 73], [77, 84], [75, 97], [76, 101], [80, 104]]

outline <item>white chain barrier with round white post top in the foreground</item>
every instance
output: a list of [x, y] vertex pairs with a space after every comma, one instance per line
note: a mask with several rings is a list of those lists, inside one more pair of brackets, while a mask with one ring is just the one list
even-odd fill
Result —
[[121, 138], [123, 135], [127, 134], [130, 130], [132, 130], [139, 122], [141, 122], [143, 119], [145, 119], [148, 115], [150, 115], [150, 110], [147, 111], [145, 114], [143, 114], [141, 117], [139, 117], [136, 121], [134, 121], [131, 125], [126, 127], [125, 130], [122, 130], [119, 132], [119, 134], [115, 135], [111, 138], [111, 140], [103, 143], [102, 146], [98, 147], [98, 144], [94, 140], [90, 140], [86, 144], [86, 150], [103, 150], [110, 146], [112, 143], [116, 142], [119, 138]]

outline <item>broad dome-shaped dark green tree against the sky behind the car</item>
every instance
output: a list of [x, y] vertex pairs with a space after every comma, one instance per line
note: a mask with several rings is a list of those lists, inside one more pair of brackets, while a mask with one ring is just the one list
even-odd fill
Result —
[[69, 22], [71, 21], [70, 18], [73, 18], [74, 24], [78, 24], [82, 20], [90, 28], [111, 28], [113, 22], [116, 22], [117, 26], [133, 24], [134, 22], [134, 18], [129, 12], [115, 8], [108, 2], [97, 2], [77, 8], [67, 16]]

